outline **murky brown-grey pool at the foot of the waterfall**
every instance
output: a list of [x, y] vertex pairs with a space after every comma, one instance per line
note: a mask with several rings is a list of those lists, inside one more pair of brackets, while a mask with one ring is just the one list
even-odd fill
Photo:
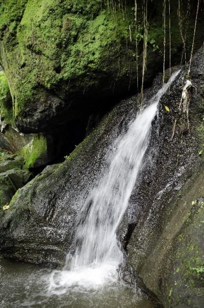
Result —
[[[56, 287], [57, 276], [62, 285]], [[119, 281], [95, 286], [69, 285], [70, 272], [53, 271], [33, 264], [0, 259], [1, 308], [155, 308], [159, 307], [139, 291]], [[88, 275], [88, 273], [87, 273]], [[55, 277], [56, 276], [56, 277]]]

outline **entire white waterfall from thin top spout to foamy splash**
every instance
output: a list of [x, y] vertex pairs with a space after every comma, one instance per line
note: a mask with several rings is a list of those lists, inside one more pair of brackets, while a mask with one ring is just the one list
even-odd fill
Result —
[[116, 269], [123, 262], [123, 253], [116, 230], [128, 206], [137, 177], [144, 165], [144, 156], [151, 138], [151, 125], [157, 113], [161, 95], [177, 74], [172, 74], [146, 108], [130, 121], [128, 128], [111, 145], [104, 170], [86, 200], [81, 200], [78, 228], [75, 234], [75, 254], [68, 254], [70, 271], [52, 277], [54, 286], [101, 285], [117, 279]]

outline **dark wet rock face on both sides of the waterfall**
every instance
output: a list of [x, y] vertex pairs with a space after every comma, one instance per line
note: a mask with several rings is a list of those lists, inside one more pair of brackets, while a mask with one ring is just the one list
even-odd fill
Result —
[[[202, 226], [197, 227], [202, 224], [204, 197], [202, 187], [199, 189], [203, 179], [203, 63], [201, 48], [193, 57], [190, 73], [195, 87], [191, 89], [190, 131], [185, 113], [179, 110], [188, 65], [162, 96], [149, 159], [118, 229], [129, 264], [166, 307], [178, 305], [178, 297], [186, 307], [187, 297], [194, 302], [195, 292], [203, 287]], [[161, 79], [158, 76], [146, 91], [147, 99], [157, 92]], [[10, 208], [0, 214], [2, 256], [63, 266], [66, 253], [75, 248], [72, 238], [78, 204], [106, 166], [107, 148], [130, 120], [131, 109], [136, 113], [135, 97], [113, 108], [62, 165], [47, 168], [18, 191]], [[186, 270], [194, 281], [192, 293], [187, 292]]]

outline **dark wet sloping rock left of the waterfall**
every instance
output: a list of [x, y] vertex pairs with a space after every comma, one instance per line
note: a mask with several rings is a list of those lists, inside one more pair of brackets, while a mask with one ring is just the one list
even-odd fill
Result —
[[0, 214], [3, 256], [58, 267], [64, 265], [77, 225], [78, 202], [97, 180], [107, 148], [105, 136], [110, 137], [111, 127], [116, 124], [114, 116], [107, 117], [55, 171], [47, 167], [19, 189], [19, 196], [13, 197], [9, 210]]

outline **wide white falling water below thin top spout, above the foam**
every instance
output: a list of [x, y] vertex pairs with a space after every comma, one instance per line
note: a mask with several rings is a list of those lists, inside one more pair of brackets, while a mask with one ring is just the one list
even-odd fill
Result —
[[110, 165], [80, 209], [76, 232], [78, 246], [71, 261], [73, 271], [87, 266], [96, 268], [104, 263], [117, 267], [123, 261], [116, 229], [147, 150], [156, 110], [157, 100], [137, 115], [128, 131], [121, 133], [109, 150]]

